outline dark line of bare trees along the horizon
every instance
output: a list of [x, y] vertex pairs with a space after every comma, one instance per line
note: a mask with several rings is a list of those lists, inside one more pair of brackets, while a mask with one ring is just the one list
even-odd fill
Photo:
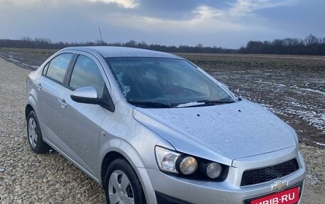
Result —
[[110, 45], [130, 48], [144, 48], [167, 53], [241, 53], [241, 54], [278, 54], [278, 55], [325, 55], [325, 38], [317, 38], [310, 34], [304, 39], [284, 38], [274, 41], [249, 41], [239, 49], [229, 49], [217, 46], [204, 46], [201, 43], [195, 46], [179, 45], [166, 46], [148, 44], [144, 41], [128, 41], [126, 43], [106, 43], [102, 41], [77, 43], [56, 42], [46, 38], [21, 38], [20, 40], [0, 39], [0, 48], [38, 48], [56, 49], [70, 46]]

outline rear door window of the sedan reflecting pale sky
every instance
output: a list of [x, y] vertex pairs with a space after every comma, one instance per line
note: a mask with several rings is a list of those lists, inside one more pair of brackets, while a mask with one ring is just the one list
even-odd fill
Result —
[[46, 73], [43, 74], [57, 82], [63, 83], [64, 75], [66, 75], [66, 70], [68, 70], [72, 56], [72, 53], [64, 53], [56, 56], [51, 60], [48, 67], [46, 66]]

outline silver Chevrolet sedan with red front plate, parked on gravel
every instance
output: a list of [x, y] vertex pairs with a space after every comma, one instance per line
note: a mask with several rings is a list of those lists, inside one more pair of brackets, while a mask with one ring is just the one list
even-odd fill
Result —
[[58, 151], [111, 204], [291, 204], [304, 188], [294, 129], [177, 55], [60, 50], [27, 78], [26, 121], [33, 151]]

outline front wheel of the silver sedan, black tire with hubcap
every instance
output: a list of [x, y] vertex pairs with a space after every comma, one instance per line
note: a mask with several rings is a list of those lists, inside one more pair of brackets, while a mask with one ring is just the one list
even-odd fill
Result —
[[146, 203], [138, 176], [123, 159], [115, 159], [106, 170], [105, 196], [108, 204]]

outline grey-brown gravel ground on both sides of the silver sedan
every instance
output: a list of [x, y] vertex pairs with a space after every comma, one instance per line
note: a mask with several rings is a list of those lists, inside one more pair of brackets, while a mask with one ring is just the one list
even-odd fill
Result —
[[[0, 204], [105, 203], [103, 189], [57, 153], [33, 154], [26, 137], [25, 82], [30, 70], [0, 58]], [[306, 162], [301, 203], [325, 203], [325, 149], [300, 144]]]

